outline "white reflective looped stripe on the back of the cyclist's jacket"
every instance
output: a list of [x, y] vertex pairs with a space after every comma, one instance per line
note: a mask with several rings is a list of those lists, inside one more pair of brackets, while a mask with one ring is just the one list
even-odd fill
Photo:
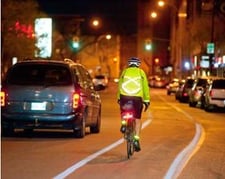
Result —
[[[122, 83], [122, 89], [127, 93], [127, 94], [137, 94], [141, 90], [141, 84], [138, 82], [138, 80], [141, 79], [141, 77], [129, 77], [129, 76], [124, 76], [127, 81]], [[129, 89], [129, 84], [134, 84], [136, 86], [135, 89]]]

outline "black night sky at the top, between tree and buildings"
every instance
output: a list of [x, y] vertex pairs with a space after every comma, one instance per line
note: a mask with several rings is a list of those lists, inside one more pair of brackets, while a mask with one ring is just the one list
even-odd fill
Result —
[[105, 31], [137, 31], [137, 0], [38, 0], [41, 10], [51, 15], [101, 17]]

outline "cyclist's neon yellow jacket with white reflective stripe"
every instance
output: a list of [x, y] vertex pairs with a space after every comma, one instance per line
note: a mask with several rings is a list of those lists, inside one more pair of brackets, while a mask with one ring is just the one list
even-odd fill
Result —
[[126, 68], [120, 76], [118, 85], [117, 99], [120, 99], [120, 95], [125, 95], [141, 97], [143, 102], [150, 101], [148, 80], [142, 69], [137, 67]]

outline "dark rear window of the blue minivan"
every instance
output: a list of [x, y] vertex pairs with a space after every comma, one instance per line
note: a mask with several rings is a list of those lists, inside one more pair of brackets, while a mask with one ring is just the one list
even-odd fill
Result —
[[7, 83], [13, 85], [70, 85], [69, 70], [60, 65], [23, 64], [15, 65], [8, 73]]

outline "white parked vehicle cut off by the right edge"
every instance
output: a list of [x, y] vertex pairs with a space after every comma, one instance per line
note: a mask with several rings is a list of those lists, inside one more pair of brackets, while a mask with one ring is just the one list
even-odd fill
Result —
[[225, 78], [212, 79], [202, 99], [202, 106], [206, 111], [213, 111], [216, 108], [225, 111]]

